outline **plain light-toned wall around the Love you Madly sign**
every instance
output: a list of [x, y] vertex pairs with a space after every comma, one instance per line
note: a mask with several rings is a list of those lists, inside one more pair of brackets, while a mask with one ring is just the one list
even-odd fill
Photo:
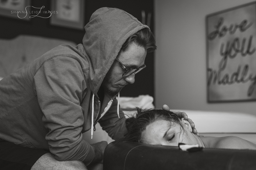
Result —
[[155, 105], [256, 115], [256, 101], [207, 103], [206, 15], [252, 0], [156, 0]]

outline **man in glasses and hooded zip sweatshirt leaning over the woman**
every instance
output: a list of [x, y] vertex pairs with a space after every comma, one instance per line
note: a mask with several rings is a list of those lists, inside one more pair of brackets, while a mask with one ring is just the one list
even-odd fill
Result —
[[134, 83], [147, 51], [155, 49], [148, 26], [105, 7], [92, 14], [83, 44], [60, 45], [2, 79], [1, 163], [12, 169], [86, 169], [102, 162], [107, 143], [89, 145], [82, 133], [91, 129], [93, 137], [99, 122], [113, 139], [123, 136], [116, 96]]

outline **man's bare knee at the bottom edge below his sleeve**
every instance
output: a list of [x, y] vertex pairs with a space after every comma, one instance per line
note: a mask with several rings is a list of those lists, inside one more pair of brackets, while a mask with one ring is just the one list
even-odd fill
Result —
[[51, 153], [46, 153], [40, 157], [32, 166], [31, 170], [87, 170], [84, 163], [77, 160], [58, 161]]

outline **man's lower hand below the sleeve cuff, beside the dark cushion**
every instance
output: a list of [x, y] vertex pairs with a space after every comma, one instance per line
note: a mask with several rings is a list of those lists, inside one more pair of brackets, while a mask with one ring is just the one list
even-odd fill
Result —
[[97, 142], [91, 145], [94, 148], [94, 153], [95, 153], [92, 163], [95, 163], [95, 162], [103, 163], [103, 154], [107, 145], [108, 144], [106, 141]]

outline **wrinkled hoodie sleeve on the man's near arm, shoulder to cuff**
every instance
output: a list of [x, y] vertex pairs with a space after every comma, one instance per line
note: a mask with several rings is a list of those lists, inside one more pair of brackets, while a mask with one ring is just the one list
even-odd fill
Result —
[[84, 116], [80, 102], [86, 84], [80, 63], [68, 56], [53, 57], [38, 68], [34, 84], [54, 158], [90, 164], [94, 149], [81, 134]]

